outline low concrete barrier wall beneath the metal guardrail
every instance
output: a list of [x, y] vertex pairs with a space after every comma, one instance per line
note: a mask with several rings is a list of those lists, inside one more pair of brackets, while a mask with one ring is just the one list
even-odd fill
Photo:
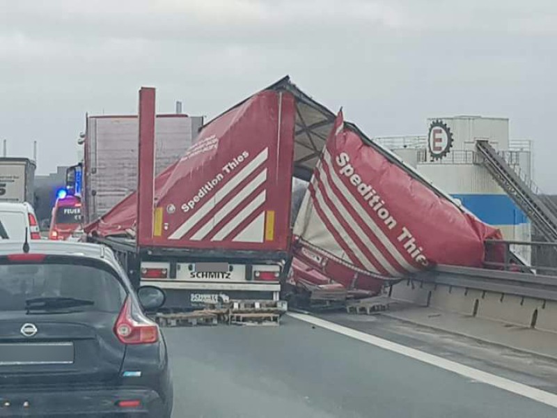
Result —
[[477, 316], [512, 325], [557, 332], [557, 302], [460, 286], [405, 280], [391, 297], [440, 311]]

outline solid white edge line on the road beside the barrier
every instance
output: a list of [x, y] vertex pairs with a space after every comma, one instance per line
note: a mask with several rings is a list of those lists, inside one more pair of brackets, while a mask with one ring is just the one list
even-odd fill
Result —
[[349, 327], [331, 323], [328, 320], [315, 318], [315, 316], [296, 314], [294, 312], [288, 312], [287, 315], [295, 319], [303, 320], [306, 323], [311, 323], [313, 325], [316, 325], [317, 327], [322, 327], [326, 330], [337, 332], [338, 334], [350, 336], [350, 338], [363, 341], [364, 343], [371, 344], [372, 346], [384, 348], [384, 350], [393, 351], [394, 353], [405, 355], [406, 357], [416, 359], [420, 362], [431, 364], [432, 366], [439, 367], [439, 369], [452, 371], [453, 373], [457, 373], [460, 376], [473, 379], [476, 382], [483, 382], [487, 385], [491, 385], [499, 389], [506, 390], [507, 392], [524, 396], [526, 398], [533, 399], [534, 401], [545, 403], [546, 405], [557, 408], [557, 394], [551, 394], [549, 392], [536, 389], [535, 387], [515, 382], [514, 380], [501, 378], [500, 376], [496, 376], [492, 373], [473, 369], [473, 367], [464, 366], [464, 364], [452, 362], [437, 355], [424, 353], [423, 351], [416, 350], [416, 348], [402, 346], [402, 344], [393, 343], [393, 341], [366, 334], [365, 332], [352, 330]]

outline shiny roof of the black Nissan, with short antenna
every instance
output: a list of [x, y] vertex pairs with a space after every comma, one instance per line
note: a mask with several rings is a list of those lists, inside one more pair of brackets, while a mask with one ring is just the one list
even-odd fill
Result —
[[[0, 240], [0, 256], [21, 254], [24, 242]], [[88, 258], [109, 258], [114, 261], [112, 251], [104, 245], [85, 242], [67, 242], [54, 240], [30, 240], [29, 253], [58, 256], [85, 256]]]

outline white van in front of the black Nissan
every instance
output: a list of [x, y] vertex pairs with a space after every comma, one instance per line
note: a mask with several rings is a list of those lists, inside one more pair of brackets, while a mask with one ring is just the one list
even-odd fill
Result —
[[33, 206], [29, 203], [0, 202], [0, 240], [23, 242], [40, 240], [40, 231]]

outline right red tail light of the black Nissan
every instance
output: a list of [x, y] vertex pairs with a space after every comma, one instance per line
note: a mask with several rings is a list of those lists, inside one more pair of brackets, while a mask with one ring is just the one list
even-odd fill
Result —
[[136, 311], [130, 297], [127, 297], [114, 333], [125, 344], [150, 344], [159, 341], [159, 327], [143, 313]]

